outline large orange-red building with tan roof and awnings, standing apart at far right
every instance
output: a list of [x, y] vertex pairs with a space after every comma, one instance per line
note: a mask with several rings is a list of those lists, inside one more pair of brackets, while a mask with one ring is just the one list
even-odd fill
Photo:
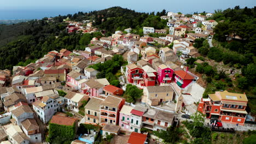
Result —
[[218, 118], [222, 122], [243, 125], [246, 119], [246, 94], [228, 91], [208, 94], [208, 99], [201, 99], [197, 110], [207, 118]]

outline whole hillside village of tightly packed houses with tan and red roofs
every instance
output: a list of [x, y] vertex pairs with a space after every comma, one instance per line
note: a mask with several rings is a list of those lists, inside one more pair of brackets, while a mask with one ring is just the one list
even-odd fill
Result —
[[[212, 15], [168, 12], [166, 29], [143, 27], [141, 37], [126, 28], [92, 38], [84, 50], [49, 51], [0, 70], [1, 143], [165, 143], [159, 131], [184, 127], [199, 112], [211, 130], [217, 121], [223, 130], [256, 130], [246, 123], [255, 118], [245, 93], [223, 89], [203, 98], [202, 77], [189, 68], [190, 58], [195, 67], [205, 63], [193, 44], [203, 38], [212, 46]], [[68, 33], [100, 31], [89, 20], [63, 22]]]

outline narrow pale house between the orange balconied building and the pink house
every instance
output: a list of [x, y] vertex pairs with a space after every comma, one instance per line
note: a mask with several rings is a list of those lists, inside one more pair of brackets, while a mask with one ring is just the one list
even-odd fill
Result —
[[123, 105], [121, 111], [119, 112], [119, 126], [121, 129], [130, 131], [130, 121], [131, 121], [131, 111], [133, 107], [128, 105]]

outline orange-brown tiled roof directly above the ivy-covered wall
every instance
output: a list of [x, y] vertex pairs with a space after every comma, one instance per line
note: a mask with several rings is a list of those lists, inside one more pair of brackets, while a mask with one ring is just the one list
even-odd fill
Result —
[[56, 115], [56, 116], [53, 116], [53, 118], [51, 118], [50, 123], [55, 123], [59, 125], [73, 125], [75, 121], [77, 121], [76, 118], [63, 117], [63, 116]]

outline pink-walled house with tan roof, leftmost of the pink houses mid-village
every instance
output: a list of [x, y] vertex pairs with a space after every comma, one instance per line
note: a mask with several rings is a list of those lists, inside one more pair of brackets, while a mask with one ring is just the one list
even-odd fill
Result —
[[78, 73], [77, 71], [71, 71], [70, 73], [67, 74], [66, 85], [78, 90], [79, 87], [81, 87], [78, 81], [85, 78], [86, 77], [84, 75]]

